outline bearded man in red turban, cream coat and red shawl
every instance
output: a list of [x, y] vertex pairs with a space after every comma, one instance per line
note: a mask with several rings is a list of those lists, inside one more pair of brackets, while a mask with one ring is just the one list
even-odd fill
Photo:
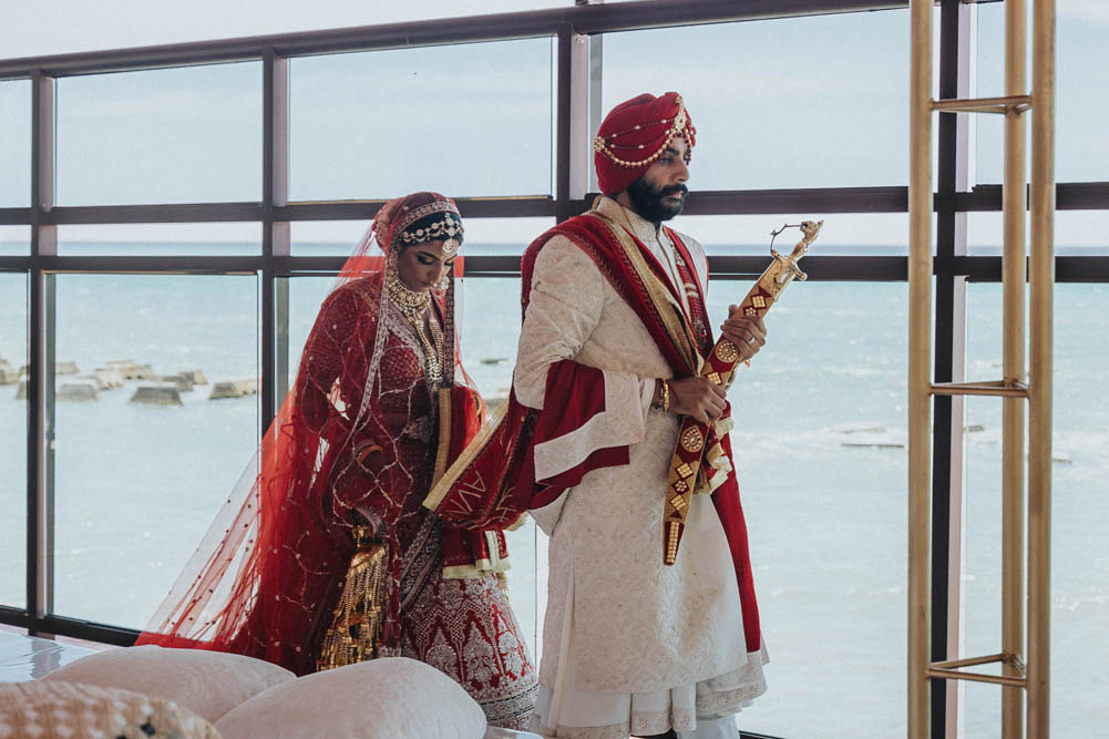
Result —
[[[546, 737], [734, 739], [734, 713], [766, 689], [730, 407], [696, 376], [714, 344], [708, 261], [663, 225], [682, 210], [694, 144], [674, 92], [604, 119], [593, 142], [604, 196], [523, 256], [507, 415], [428, 500], [471, 525], [527, 509], [550, 535], [532, 722]], [[766, 342], [759, 317], [721, 332], [741, 361]], [[721, 474], [690, 478], [706, 494], [690, 499], [667, 565], [668, 473], [686, 415], [710, 432], [681, 443], [703, 444]]]

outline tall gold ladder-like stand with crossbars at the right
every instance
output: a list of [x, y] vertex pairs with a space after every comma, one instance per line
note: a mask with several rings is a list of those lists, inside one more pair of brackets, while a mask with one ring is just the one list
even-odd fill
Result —
[[[1027, 7], [1005, 2], [1005, 97], [933, 100], [933, 0], [910, 0], [909, 367], [908, 367], [908, 732], [929, 739], [929, 684], [977, 680], [1001, 686], [1003, 739], [1049, 733], [1051, 536], [1051, 364], [1055, 283], [1055, 0], [1032, 0], [1032, 89], [1027, 89]], [[932, 124], [937, 111], [1005, 117], [1004, 360], [989, 383], [932, 382]], [[1030, 314], [1025, 375], [1025, 115], [1031, 113], [1028, 261]], [[994, 655], [930, 658], [932, 398], [998, 397], [1003, 408], [1003, 624]], [[1025, 424], [1028, 456], [1025, 467]], [[1025, 492], [1027, 472], [1027, 549]], [[1027, 555], [1027, 573], [1025, 557]], [[1027, 577], [1027, 604], [1025, 596]], [[1027, 606], [1027, 645], [1025, 615]], [[1000, 675], [968, 668], [1001, 664]], [[1027, 708], [1025, 698], [1027, 696]]]

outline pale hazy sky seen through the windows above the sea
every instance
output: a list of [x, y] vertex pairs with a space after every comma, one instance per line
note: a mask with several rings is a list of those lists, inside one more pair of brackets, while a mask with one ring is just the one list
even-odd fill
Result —
[[[214, 0], [6, 0], [0, 57], [557, 4], [271, 2], [263, 13], [254, 3]], [[1106, 181], [1109, 2], [1059, 0], [1058, 10], [1057, 179]], [[977, 94], [999, 94], [1003, 6], [978, 6], [977, 13]], [[699, 132], [693, 190], [904, 185], [907, 39], [905, 11], [607, 34], [602, 104], [607, 110], [643, 90], [681, 91]], [[552, 65], [549, 39], [294, 59], [291, 199], [376, 199], [416, 189], [550, 193]], [[242, 62], [60, 80], [58, 203], [256, 200], [261, 77], [261, 63]], [[29, 156], [19, 145], [29, 130], [27, 93], [26, 82], [0, 82], [0, 206], [27, 200]], [[983, 117], [975, 126], [971, 181], [998, 182], [1000, 121]], [[760, 243], [787, 217], [823, 215], [685, 216], [675, 225], [704, 242]], [[822, 237], [833, 243], [906, 240], [904, 214], [825, 220]], [[490, 241], [516, 241], [546, 223], [512, 221], [490, 220], [477, 231]], [[970, 242], [997, 243], [995, 221], [973, 214]], [[304, 224], [301, 233], [343, 241], [360, 227]], [[81, 229], [63, 237], [85, 237]], [[141, 226], [122, 231], [144, 237]], [[114, 236], [130, 237], [122, 231]], [[193, 237], [222, 241], [233, 229], [193, 231]], [[0, 240], [9, 232], [0, 229]], [[1107, 232], [1109, 213], [1061, 213], [1057, 242], [1103, 245]]]

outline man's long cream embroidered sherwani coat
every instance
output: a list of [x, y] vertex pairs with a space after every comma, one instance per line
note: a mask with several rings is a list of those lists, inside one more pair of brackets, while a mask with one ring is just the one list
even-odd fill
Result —
[[[608, 198], [598, 210], [628, 225], [681, 285], [664, 232]], [[682, 241], [704, 290], [704, 251]], [[622, 739], [731, 716], [765, 691], [766, 658], [746, 651], [735, 571], [709, 496], [693, 497], [678, 561], [662, 564], [665, 480], [680, 418], [650, 404], [654, 378], [671, 377], [670, 366], [589, 255], [559, 235], [536, 259], [513, 376], [520, 403], [543, 406], [547, 368], [561, 360], [603, 371], [606, 409], [538, 445], [536, 477], [569, 469], [601, 447], [629, 445], [631, 462], [590, 472], [531, 512], [550, 535], [535, 730]]]

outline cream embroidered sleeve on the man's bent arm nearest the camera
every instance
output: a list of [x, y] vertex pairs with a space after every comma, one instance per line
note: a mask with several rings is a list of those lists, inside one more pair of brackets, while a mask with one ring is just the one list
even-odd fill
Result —
[[[560, 362], [578, 362], [587, 344], [597, 341], [606, 302], [614, 295], [589, 255], [569, 240], [554, 236], [543, 246], [536, 259], [516, 361], [513, 388], [520, 403], [542, 409], [548, 403], [568, 401], [547, 397], [549, 371]], [[603, 382], [603, 409], [571, 433], [537, 444], [537, 479], [571, 469], [598, 449], [643, 441], [653, 378], [603, 366], [596, 370]], [[589, 377], [597, 375], [587, 373], [576, 382], [593, 382]]]

